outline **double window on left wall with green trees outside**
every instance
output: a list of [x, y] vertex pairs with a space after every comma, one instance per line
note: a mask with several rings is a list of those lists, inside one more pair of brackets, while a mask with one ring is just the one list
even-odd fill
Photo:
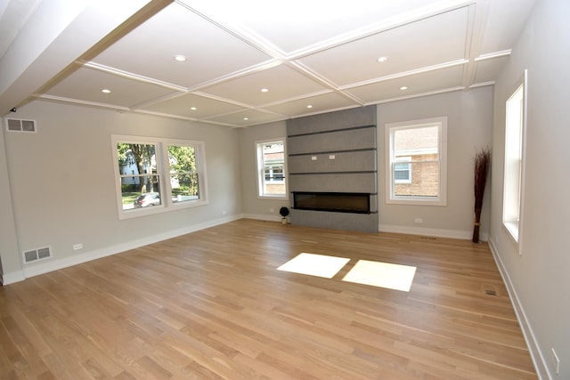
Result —
[[207, 203], [204, 143], [113, 135], [119, 219]]

